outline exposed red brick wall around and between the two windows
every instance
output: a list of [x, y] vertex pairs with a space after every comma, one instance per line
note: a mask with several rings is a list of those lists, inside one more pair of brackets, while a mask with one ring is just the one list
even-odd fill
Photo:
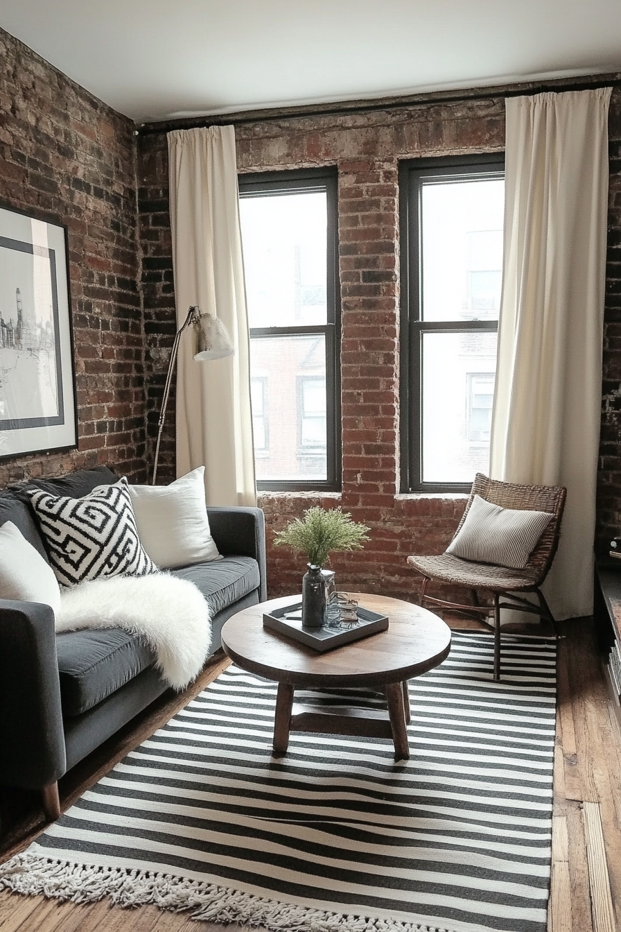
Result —
[[[621, 528], [621, 92], [611, 105], [611, 212], [598, 533]], [[439, 553], [451, 539], [464, 496], [400, 496], [398, 476], [398, 159], [502, 151], [502, 94], [491, 100], [421, 103], [347, 116], [288, 117], [236, 127], [239, 171], [336, 164], [339, 172], [340, 278], [343, 308], [343, 492], [263, 493], [268, 587], [277, 596], [299, 589], [299, 557], [272, 546], [290, 518], [313, 504], [343, 505], [371, 527], [364, 551], [334, 555], [341, 588], [412, 598], [418, 581], [406, 568], [411, 553]], [[146, 322], [154, 358], [147, 358], [156, 420], [165, 375], [160, 351], [174, 333], [166, 138], [139, 139], [140, 228], [144, 250]], [[147, 261], [150, 265], [147, 266]], [[166, 354], [163, 353], [163, 356]], [[172, 420], [172, 418], [171, 418]], [[173, 474], [174, 433], [167, 430]]]

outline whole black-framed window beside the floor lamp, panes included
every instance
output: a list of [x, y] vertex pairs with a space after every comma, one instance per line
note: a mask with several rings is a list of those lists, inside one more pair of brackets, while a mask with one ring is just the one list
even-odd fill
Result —
[[259, 488], [339, 488], [336, 209], [335, 169], [239, 176]]

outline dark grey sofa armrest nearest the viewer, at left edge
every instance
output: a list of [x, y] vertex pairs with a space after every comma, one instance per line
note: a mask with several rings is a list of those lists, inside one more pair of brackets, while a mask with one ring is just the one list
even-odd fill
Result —
[[54, 612], [0, 599], [0, 783], [40, 789], [66, 767]]

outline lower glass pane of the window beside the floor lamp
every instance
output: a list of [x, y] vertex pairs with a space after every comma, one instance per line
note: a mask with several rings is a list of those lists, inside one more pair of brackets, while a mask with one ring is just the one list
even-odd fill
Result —
[[[269, 445], [255, 430], [257, 479], [326, 480], [326, 338], [252, 336], [250, 380], [263, 379], [263, 425]], [[252, 415], [255, 418], [255, 394]], [[256, 423], [256, 421], [255, 421]], [[263, 432], [266, 429], [263, 427]]]

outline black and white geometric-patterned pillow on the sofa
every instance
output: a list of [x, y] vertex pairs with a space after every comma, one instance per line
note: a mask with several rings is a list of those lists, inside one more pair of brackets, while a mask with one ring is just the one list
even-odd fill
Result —
[[28, 494], [61, 585], [157, 572], [138, 537], [125, 477], [94, 488], [82, 499], [42, 490]]

